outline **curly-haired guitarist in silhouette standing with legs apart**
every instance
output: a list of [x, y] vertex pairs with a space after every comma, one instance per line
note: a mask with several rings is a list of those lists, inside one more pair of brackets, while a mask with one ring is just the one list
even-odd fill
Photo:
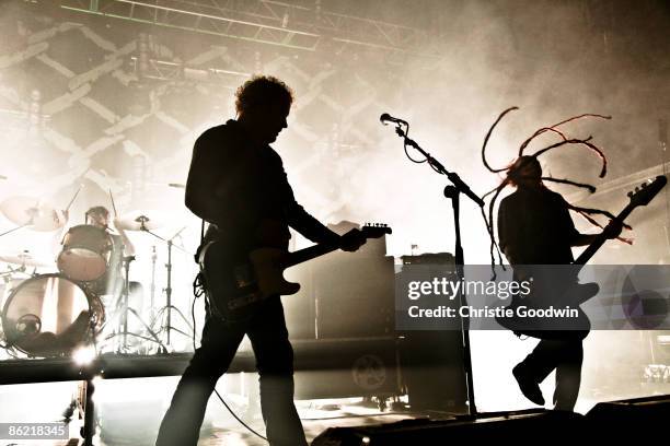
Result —
[[[337, 243], [349, 251], [363, 243], [358, 232], [338, 236], [296, 202], [281, 159], [268, 145], [287, 128], [292, 101], [291, 90], [284, 82], [253, 78], [236, 92], [236, 120], [210, 128], [196, 141], [186, 206], [210, 223], [205, 244], [218, 240], [231, 256], [244, 259], [255, 248], [286, 249], [289, 226], [312, 242]], [[276, 295], [263, 301], [253, 317], [244, 321], [208, 315], [200, 348], [161, 424], [158, 446], [197, 444], [209, 396], [245, 334], [256, 356], [270, 445], [307, 445], [293, 404], [293, 351]]]

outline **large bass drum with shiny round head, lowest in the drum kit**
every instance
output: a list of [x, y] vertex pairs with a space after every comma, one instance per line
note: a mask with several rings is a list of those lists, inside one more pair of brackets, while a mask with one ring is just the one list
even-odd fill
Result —
[[104, 320], [100, 298], [59, 274], [23, 281], [2, 310], [8, 345], [42, 357], [69, 355], [90, 344]]

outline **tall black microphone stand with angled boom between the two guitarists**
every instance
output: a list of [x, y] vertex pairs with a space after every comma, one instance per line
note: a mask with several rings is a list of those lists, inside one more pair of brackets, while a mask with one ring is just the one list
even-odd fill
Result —
[[[454, 172], [449, 172], [447, 168], [432, 155], [426, 152], [421, 146], [414, 140], [407, 137], [407, 132], [403, 130], [401, 122], [396, 122], [395, 133], [401, 137], [404, 141], [405, 146], [409, 145], [416, 149], [419, 153], [421, 153], [428, 164], [441, 175], [446, 175], [447, 178], [451, 181], [452, 186], [444, 187], [444, 197], [451, 199], [451, 207], [453, 210], [453, 222], [454, 222], [454, 232], [455, 232], [455, 269], [459, 281], [463, 281], [465, 275], [463, 271], [464, 256], [463, 256], [463, 245], [461, 243], [461, 224], [460, 224], [460, 197], [461, 193], [464, 193], [467, 198], [474, 201], [480, 208], [484, 207], [484, 200], [477, 197], [472, 189], [459, 177], [459, 175]], [[467, 306], [467, 297], [463, 292], [462, 287], [459, 290], [459, 303], [461, 307]], [[465, 380], [467, 387], [467, 411], [471, 416], [475, 416], [477, 414], [477, 407], [475, 404], [475, 395], [474, 395], [474, 380], [472, 376], [472, 356], [471, 356], [471, 348], [470, 348], [470, 318], [461, 317], [461, 341], [463, 345], [463, 369], [465, 372]]]

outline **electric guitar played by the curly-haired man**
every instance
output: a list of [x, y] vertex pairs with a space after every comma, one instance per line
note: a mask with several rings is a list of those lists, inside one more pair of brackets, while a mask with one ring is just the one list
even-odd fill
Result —
[[[365, 225], [360, 232], [368, 239], [380, 238], [392, 231], [386, 225], [376, 224]], [[336, 243], [317, 244], [293, 253], [258, 248], [240, 260], [221, 242], [210, 242], [201, 249], [198, 259], [210, 309], [227, 321], [247, 319], [267, 297], [291, 295], [300, 290], [299, 283], [284, 279], [286, 269], [339, 247]]]

